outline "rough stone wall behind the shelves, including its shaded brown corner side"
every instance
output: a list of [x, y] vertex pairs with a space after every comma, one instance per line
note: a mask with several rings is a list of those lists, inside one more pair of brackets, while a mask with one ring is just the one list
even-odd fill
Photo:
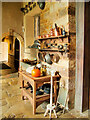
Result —
[[[45, 9], [40, 14], [40, 34], [49, 34], [50, 29], [55, 27], [55, 23], [69, 32], [70, 52], [69, 54], [58, 53], [60, 60], [53, 64], [53, 68], [61, 75], [61, 82], [69, 90], [69, 108], [74, 107], [75, 97], [75, 70], [76, 70], [76, 24], [75, 24], [75, 3], [67, 2], [47, 2]], [[67, 38], [63, 41], [67, 42]], [[60, 84], [62, 84], [60, 82]]]

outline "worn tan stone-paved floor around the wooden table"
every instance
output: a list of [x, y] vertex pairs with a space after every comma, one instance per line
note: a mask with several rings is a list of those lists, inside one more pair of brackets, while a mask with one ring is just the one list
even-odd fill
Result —
[[[6, 72], [5, 72], [6, 71]], [[8, 70], [4, 70], [4, 73], [8, 73]], [[36, 114], [33, 115], [32, 106], [28, 100], [23, 101], [21, 99], [20, 82], [18, 73], [3, 74], [0, 77], [0, 111], [2, 110], [1, 118], [45, 118], [45, 109], [39, 106], [36, 110]], [[58, 118], [88, 118], [89, 111], [79, 113], [76, 110], [70, 110], [65, 114], [61, 111], [57, 112]], [[52, 115], [54, 117], [54, 115]], [[46, 118], [49, 118], [47, 116]]]

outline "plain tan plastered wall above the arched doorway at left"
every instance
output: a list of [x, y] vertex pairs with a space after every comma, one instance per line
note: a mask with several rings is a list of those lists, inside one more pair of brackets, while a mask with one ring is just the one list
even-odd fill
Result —
[[2, 2], [2, 34], [9, 32], [9, 29], [13, 29], [23, 36], [21, 7], [21, 2]]

